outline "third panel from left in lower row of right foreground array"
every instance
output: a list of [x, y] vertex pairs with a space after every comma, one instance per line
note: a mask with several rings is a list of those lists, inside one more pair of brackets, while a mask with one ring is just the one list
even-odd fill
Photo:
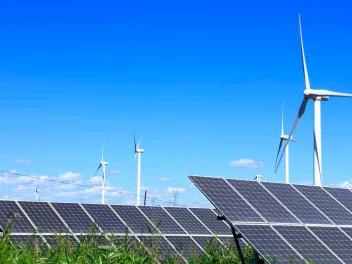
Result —
[[337, 227], [309, 227], [345, 263], [352, 263], [352, 241]]

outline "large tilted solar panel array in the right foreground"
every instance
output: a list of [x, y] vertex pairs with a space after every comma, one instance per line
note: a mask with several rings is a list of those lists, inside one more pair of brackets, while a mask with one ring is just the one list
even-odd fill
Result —
[[188, 178], [269, 263], [352, 263], [351, 190]]

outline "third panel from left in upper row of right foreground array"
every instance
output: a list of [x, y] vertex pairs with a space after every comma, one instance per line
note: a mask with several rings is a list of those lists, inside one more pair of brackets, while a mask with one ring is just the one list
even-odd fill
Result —
[[262, 182], [280, 202], [305, 224], [332, 224], [291, 185]]

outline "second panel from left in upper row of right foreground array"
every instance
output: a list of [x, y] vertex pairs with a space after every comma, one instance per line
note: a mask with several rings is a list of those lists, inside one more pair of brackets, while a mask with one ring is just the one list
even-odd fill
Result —
[[236, 190], [269, 222], [299, 223], [274, 197], [257, 181], [227, 179]]

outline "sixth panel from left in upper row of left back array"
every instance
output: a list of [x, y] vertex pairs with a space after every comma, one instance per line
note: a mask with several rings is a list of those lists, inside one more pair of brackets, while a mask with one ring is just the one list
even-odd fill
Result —
[[186, 232], [161, 207], [140, 206], [139, 209], [163, 234], [186, 234]]

